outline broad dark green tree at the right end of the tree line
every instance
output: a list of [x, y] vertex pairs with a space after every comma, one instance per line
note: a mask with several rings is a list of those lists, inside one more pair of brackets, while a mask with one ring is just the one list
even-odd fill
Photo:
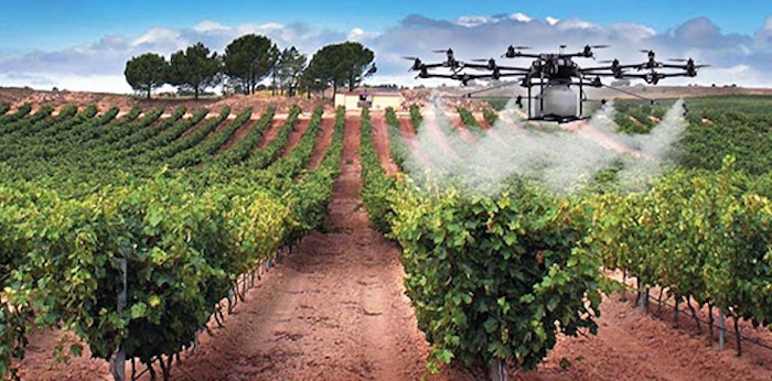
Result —
[[313, 79], [332, 85], [333, 91], [339, 86], [349, 86], [354, 90], [362, 79], [375, 73], [373, 59], [375, 54], [358, 42], [326, 45], [311, 58], [308, 69]]

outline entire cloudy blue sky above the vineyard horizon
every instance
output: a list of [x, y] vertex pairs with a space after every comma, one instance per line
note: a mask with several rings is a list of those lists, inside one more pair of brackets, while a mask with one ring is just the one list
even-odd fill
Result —
[[130, 92], [122, 72], [132, 56], [169, 57], [199, 41], [222, 52], [257, 33], [309, 56], [358, 41], [376, 53], [369, 83], [418, 84], [400, 57], [439, 61], [436, 48], [465, 59], [497, 57], [510, 44], [608, 43], [599, 59], [639, 62], [639, 48], [653, 48], [660, 58], [711, 65], [669, 83], [772, 87], [770, 0], [0, 0], [0, 86]]

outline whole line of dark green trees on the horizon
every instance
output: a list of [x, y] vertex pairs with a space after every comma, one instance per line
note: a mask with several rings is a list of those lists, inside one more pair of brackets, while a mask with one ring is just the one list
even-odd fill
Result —
[[275, 92], [288, 97], [305, 90], [323, 91], [330, 87], [353, 90], [376, 72], [375, 53], [358, 42], [325, 45], [311, 61], [294, 46], [279, 48], [269, 37], [247, 34], [232, 41], [222, 55], [199, 42], [173, 53], [167, 59], [144, 53], [126, 63], [124, 75], [137, 91], [147, 95], [165, 84], [180, 92], [199, 96], [217, 85], [225, 92], [255, 94], [269, 79]]

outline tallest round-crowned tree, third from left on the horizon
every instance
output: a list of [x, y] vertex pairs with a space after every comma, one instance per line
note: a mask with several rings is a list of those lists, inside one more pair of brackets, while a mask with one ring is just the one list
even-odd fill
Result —
[[274, 42], [264, 35], [243, 35], [225, 47], [225, 74], [240, 83], [245, 94], [254, 94], [257, 84], [274, 69]]

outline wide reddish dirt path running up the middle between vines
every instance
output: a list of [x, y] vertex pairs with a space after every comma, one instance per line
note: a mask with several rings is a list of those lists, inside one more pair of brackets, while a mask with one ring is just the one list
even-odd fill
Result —
[[347, 119], [329, 226], [271, 270], [175, 380], [416, 380], [428, 351], [398, 248], [361, 208], [358, 119]]

